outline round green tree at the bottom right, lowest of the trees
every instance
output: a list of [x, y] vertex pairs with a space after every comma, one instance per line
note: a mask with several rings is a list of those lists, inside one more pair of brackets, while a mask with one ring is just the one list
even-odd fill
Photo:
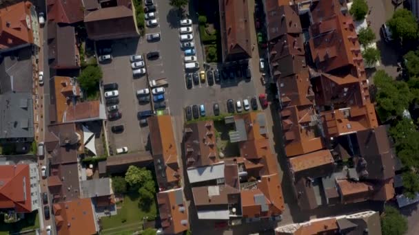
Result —
[[396, 208], [386, 206], [381, 217], [382, 235], [402, 235], [407, 232], [407, 219]]

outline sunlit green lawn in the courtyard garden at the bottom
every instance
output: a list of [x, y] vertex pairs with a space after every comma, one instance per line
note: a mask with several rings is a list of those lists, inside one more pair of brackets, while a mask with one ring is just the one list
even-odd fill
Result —
[[[139, 203], [138, 193], [130, 193], [125, 195], [124, 201], [122, 203], [122, 208], [118, 210], [118, 214], [110, 217], [102, 217], [101, 225], [102, 230], [107, 230], [115, 227], [121, 227], [121, 230], [125, 230], [124, 227], [129, 229], [130, 224], [143, 222], [143, 217], [148, 216], [149, 218], [154, 218], [157, 214], [156, 203], [150, 205], [150, 208], [141, 208]], [[121, 206], [121, 204], [119, 204]], [[122, 232], [119, 230], [119, 232]]]

